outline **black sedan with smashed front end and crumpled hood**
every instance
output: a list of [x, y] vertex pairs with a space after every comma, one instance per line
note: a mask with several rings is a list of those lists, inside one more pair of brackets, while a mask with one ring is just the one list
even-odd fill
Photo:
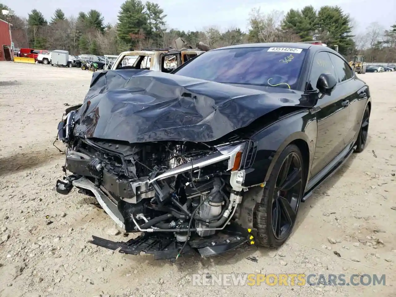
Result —
[[279, 247], [301, 202], [366, 145], [367, 84], [336, 51], [304, 43], [214, 49], [173, 73], [93, 73], [59, 123], [65, 177], [96, 197], [128, 242], [177, 259]]

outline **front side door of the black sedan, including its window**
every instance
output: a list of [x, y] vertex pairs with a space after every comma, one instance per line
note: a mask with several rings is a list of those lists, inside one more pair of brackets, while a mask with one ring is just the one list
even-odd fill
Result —
[[[316, 89], [316, 82], [322, 73], [337, 77], [327, 51], [320, 51], [314, 56], [308, 89]], [[345, 139], [348, 136], [348, 104], [343, 88], [336, 86], [330, 96], [319, 94], [315, 113], [318, 134], [311, 177], [318, 174], [345, 148]]]

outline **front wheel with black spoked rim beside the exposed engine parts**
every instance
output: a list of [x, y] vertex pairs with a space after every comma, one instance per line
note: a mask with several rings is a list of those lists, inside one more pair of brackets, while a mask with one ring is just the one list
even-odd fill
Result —
[[254, 227], [260, 246], [280, 247], [289, 238], [305, 188], [303, 156], [288, 145], [276, 161], [261, 201], [256, 204]]

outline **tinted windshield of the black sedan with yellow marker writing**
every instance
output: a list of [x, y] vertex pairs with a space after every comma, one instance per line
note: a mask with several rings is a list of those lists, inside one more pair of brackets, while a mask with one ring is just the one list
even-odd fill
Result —
[[290, 88], [301, 73], [305, 49], [232, 48], [208, 51], [173, 72], [228, 84]]

